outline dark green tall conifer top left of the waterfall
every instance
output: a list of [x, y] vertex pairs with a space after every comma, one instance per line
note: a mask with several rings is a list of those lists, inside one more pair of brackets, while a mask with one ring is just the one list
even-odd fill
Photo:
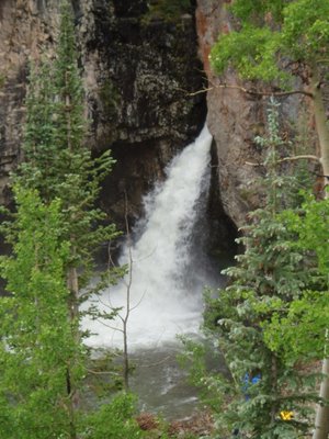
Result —
[[[77, 60], [71, 9], [64, 2], [56, 60], [32, 68], [23, 145], [26, 161], [14, 180], [36, 189], [47, 202], [61, 199], [70, 264], [83, 269], [88, 279], [93, 251], [116, 235], [113, 225], [100, 225], [106, 216], [94, 207], [100, 183], [114, 160], [110, 151], [93, 159], [83, 143], [87, 122]], [[81, 286], [87, 279], [80, 279]]]

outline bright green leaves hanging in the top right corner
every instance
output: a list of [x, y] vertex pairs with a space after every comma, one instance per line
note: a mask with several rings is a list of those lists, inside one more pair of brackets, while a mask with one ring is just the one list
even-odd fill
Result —
[[220, 35], [212, 49], [211, 61], [218, 75], [232, 67], [245, 79], [274, 80], [288, 88], [285, 57], [310, 67], [326, 63], [328, 2], [237, 0], [232, 11], [240, 19], [240, 29]]

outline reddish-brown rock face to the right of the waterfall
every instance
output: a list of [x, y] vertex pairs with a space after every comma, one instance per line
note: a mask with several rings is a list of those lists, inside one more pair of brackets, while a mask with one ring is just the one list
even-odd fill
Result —
[[[249, 85], [239, 82], [230, 71], [224, 79], [229, 87], [218, 87], [220, 81], [211, 70], [212, 46], [219, 34], [229, 32], [234, 25], [227, 9], [230, 2], [197, 0], [196, 29], [200, 57], [209, 83], [207, 125], [216, 144], [217, 188], [225, 213], [240, 227], [246, 223], [246, 214], [260, 204], [259, 196], [251, 190], [260, 168], [248, 162], [260, 160], [261, 150], [254, 137], [264, 134], [269, 98], [242, 92], [239, 86], [248, 88]], [[283, 123], [290, 130], [290, 121], [297, 120], [298, 99], [286, 97], [281, 104]]]

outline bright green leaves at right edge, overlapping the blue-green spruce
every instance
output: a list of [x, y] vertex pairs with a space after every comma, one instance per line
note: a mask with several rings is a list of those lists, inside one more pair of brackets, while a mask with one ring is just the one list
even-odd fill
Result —
[[[288, 359], [321, 358], [326, 344], [325, 333], [329, 314], [329, 200], [316, 201], [308, 195], [299, 212], [286, 211], [282, 217], [287, 229], [296, 234], [290, 251], [305, 251], [308, 259], [308, 277], [313, 289], [286, 306], [284, 315], [274, 313], [263, 325], [268, 346]], [[316, 263], [314, 263], [316, 260]], [[313, 261], [313, 263], [310, 263]], [[317, 270], [311, 270], [316, 266]]]

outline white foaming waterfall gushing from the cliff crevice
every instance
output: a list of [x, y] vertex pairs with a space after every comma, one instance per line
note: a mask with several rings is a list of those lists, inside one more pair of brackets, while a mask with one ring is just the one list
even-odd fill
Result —
[[[137, 225], [139, 238], [131, 246], [131, 351], [137, 346], [149, 348], [172, 341], [177, 334], [198, 331], [206, 280], [197, 267], [201, 262], [195, 263], [195, 258], [192, 261], [191, 245], [200, 199], [209, 182], [211, 143], [212, 136], [204, 127], [197, 139], [167, 168], [164, 183], [145, 199], [146, 217]], [[128, 250], [124, 250], [121, 263], [128, 262]], [[109, 311], [124, 306], [127, 288], [122, 282], [109, 288], [95, 302], [100, 309]], [[95, 334], [87, 340], [89, 346], [122, 348], [120, 330], [99, 320], [86, 320], [84, 325]], [[120, 318], [106, 325], [122, 328]]]

